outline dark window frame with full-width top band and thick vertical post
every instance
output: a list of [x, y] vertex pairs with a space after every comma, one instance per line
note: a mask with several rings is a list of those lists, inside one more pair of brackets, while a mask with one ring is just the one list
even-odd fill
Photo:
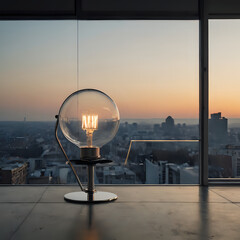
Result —
[[[0, 20], [64, 19], [199, 20], [200, 185], [207, 186], [209, 183], [216, 183], [216, 181], [208, 179], [208, 20], [240, 19], [240, 2], [235, 0], [37, 0], [34, 2], [31, 0], [22, 0], [20, 2], [18, 0], [0, 1]], [[221, 182], [221, 179], [218, 179], [217, 181]], [[235, 182], [235, 179], [233, 179], [232, 182]]]

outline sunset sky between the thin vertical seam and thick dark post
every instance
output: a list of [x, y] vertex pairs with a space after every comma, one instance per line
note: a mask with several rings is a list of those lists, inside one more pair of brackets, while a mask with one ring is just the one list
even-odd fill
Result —
[[198, 116], [197, 21], [82, 22], [79, 86], [116, 101], [122, 117]]

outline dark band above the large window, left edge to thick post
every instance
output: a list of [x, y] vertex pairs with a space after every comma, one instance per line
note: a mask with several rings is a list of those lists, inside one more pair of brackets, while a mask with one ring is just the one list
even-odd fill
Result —
[[0, 0], [1, 19], [197, 19], [198, 0]]

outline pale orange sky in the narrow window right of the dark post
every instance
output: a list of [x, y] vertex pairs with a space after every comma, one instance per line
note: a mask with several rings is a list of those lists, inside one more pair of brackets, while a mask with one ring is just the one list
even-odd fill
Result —
[[209, 23], [209, 112], [240, 117], [240, 20]]

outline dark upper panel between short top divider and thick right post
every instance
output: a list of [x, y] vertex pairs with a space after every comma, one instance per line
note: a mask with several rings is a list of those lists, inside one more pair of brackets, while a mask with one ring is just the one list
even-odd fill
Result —
[[82, 13], [119, 18], [198, 18], [198, 0], [82, 0]]

